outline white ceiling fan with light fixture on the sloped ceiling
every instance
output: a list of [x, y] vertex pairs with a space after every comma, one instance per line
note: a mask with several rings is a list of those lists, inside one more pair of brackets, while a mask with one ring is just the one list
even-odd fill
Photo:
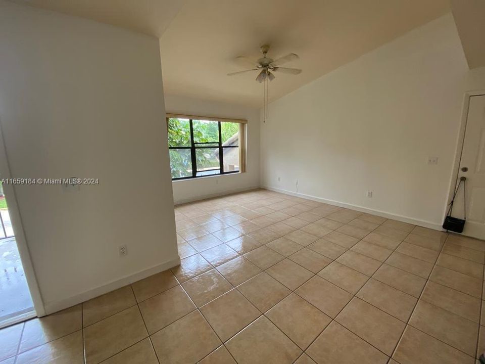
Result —
[[245, 56], [236, 57], [236, 60], [243, 61], [247, 64], [251, 64], [254, 68], [249, 70], [244, 70], [244, 71], [228, 73], [227, 75], [233, 76], [236, 74], [241, 74], [246, 72], [260, 71], [258, 76], [256, 77], [256, 81], [261, 83], [266, 79], [268, 79], [269, 81], [272, 81], [275, 78], [272, 72], [289, 73], [294, 75], [297, 75], [302, 72], [302, 70], [298, 68], [279, 67], [279, 65], [281, 64], [298, 59], [299, 57], [295, 53], [289, 53], [284, 57], [278, 58], [277, 60], [273, 60], [272, 58], [266, 57], [266, 54], [268, 53], [268, 51], [269, 51], [269, 45], [263, 44], [261, 45], [261, 53], [263, 54], [263, 58], [260, 58], [257, 61], [252, 61]]

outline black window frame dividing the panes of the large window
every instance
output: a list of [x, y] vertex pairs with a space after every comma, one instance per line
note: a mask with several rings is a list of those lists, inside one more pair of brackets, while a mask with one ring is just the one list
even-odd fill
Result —
[[[170, 119], [178, 119], [178, 118], [167, 118], [167, 135], [168, 135], [168, 123], [170, 122]], [[186, 119], [185, 119], [186, 120]], [[224, 149], [225, 148], [240, 148], [239, 143], [237, 143], [236, 146], [223, 146], [222, 145], [222, 132], [221, 132], [221, 122], [218, 120], [201, 120], [201, 121], [211, 121], [211, 122], [217, 122], [218, 124], [218, 129], [219, 129], [219, 141], [218, 142], [205, 142], [205, 143], [195, 143], [193, 140], [193, 123], [192, 121], [198, 119], [188, 119], [189, 121], [189, 126], [190, 126], [190, 147], [170, 147], [168, 146], [168, 149], [189, 149], [190, 150], [190, 157], [191, 157], [191, 162], [192, 162], [192, 175], [188, 177], [177, 177], [173, 178], [172, 180], [181, 180], [181, 179], [193, 179], [193, 178], [204, 178], [204, 177], [213, 177], [213, 176], [218, 176], [218, 175], [224, 175], [224, 174], [233, 174], [233, 173], [239, 173], [241, 166], [240, 166], [240, 153], [239, 153], [239, 170], [237, 171], [229, 171], [229, 172], [224, 172]], [[230, 121], [224, 121], [224, 122], [230, 122]], [[234, 122], [234, 124], [239, 124], [239, 134], [241, 133], [241, 124]], [[240, 136], [239, 136], [239, 141], [240, 141]], [[204, 144], [210, 144], [210, 146], [203, 146]], [[217, 144], [217, 147], [214, 145]], [[196, 146], [197, 145], [197, 146]], [[202, 146], [200, 146], [202, 145]], [[214, 149], [218, 148], [219, 150], [219, 168], [214, 168], [214, 169], [208, 169], [207, 171], [213, 171], [213, 170], [218, 170], [219, 173], [216, 174], [208, 174], [208, 175], [197, 175], [197, 159], [196, 159], [196, 150], [197, 149]], [[200, 172], [200, 171], [199, 171]]]

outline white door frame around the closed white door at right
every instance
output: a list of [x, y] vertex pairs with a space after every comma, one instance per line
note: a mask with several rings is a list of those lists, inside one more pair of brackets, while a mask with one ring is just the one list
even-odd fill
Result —
[[453, 194], [456, 189], [456, 185], [458, 183], [458, 174], [459, 174], [459, 169], [460, 169], [460, 163], [461, 163], [461, 156], [463, 153], [463, 147], [465, 144], [465, 131], [466, 131], [466, 123], [468, 119], [468, 108], [470, 106], [470, 99], [473, 96], [485, 96], [485, 90], [472, 90], [472, 91], [467, 91], [465, 93], [465, 96], [463, 97], [463, 106], [461, 109], [461, 121], [460, 121], [460, 129], [458, 132], [458, 140], [456, 143], [456, 149], [455, 149], [455, 160], [453, 162], [453, 170], [451, 173], [451, 178], [450, 178], [450, 186], [449, 186], [449, 191], [448, 191], [448, 199], [445, 202], [445, 208], [443, 212], [443, 218], [442, 221], [444, 221], [446, 213], [448, 212], [448, 204], [450, 203], [451, 199], [453, 198]]

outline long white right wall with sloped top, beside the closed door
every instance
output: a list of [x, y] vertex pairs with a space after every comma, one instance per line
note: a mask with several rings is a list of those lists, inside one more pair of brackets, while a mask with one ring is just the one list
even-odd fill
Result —
[[262, 185], [439, 228], [464, 93], [484, 73], [451, 15], [383, 45], [270, 104]]

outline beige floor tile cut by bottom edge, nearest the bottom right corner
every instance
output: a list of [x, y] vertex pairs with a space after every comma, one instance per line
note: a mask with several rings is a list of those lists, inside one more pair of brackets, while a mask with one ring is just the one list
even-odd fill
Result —
[[473, 364], [471, 356], [408, 326], [393, 358], [400, 364]]

